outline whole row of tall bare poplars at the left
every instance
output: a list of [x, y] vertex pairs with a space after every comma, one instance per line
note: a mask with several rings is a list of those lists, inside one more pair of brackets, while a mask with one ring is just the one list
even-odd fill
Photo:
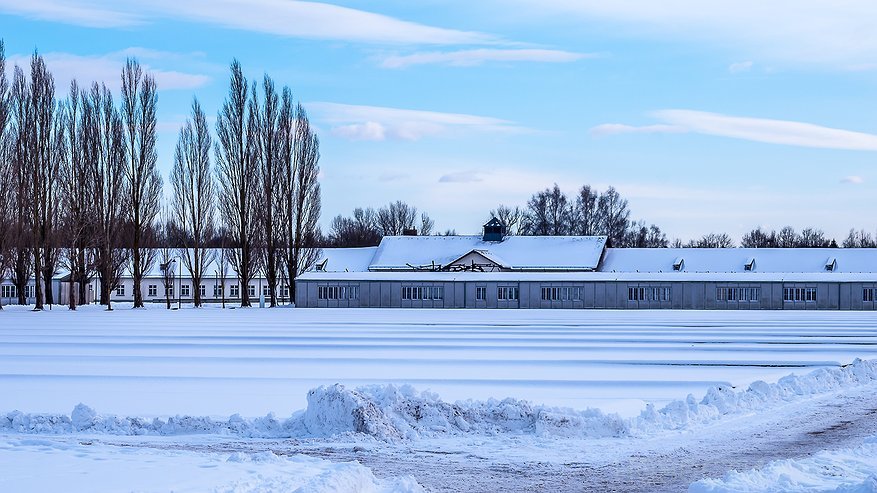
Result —
[[[98, 82], [73, 80], [66, 97], [57, 97], [38, 53], [28, 72], [13, 68], [11, 81], [5, 64], [0, 40], [0, 281], [10, 277], [19, 303], [31, 278], [36, 309], [54, 303], [51, 282], [63, 267], [71, 309], [95, 278], [109, 309], [128, 269], [141, 307], [144, 275], [160, 262], [171, 277], [176, 261], [191, 273], [196, 306], [213, 261], [245, 287], [265, 272], [272, 306], [281, 284], [294, 296], [292, 281], [318, 255], [320, 152], [288, 87], [278, 90], [267, 74], [261, 84], [248, 81], [233, 61], [215, 140], [193, 98], [165, 200], [157, 87], [135, 59], [122, 69], [118, 103]], [[247, 289], [240, 298], [250, 306]]]

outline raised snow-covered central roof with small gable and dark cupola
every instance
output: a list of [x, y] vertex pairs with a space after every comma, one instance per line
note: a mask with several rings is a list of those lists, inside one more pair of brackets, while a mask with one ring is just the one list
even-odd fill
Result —
[[513, 270], [593, 270], [605, 245], [605, 236], [507, 236], [501, 242], [480, 235], [386, 236], [370, 270], [447, 266], [473, 250]]

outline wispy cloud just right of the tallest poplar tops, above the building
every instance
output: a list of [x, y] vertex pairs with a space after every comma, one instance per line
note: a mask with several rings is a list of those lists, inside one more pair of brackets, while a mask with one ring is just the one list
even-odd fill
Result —
[[420, 140], [458, 130], [499, 133], [526, 131], [508, 120], [463, 113], [326, 102], [306, 106], [315, 119], [330, 125], [333, 135], [350, 140]]

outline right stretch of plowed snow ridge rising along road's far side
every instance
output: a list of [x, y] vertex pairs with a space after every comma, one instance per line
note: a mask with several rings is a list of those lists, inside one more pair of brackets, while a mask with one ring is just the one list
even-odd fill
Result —
[[652, 404], [647, 405], [638, 417], [631, 419], [630, 430], [634, 435], [647, 435], [685, 429], [728, 414], [761, 410], [781, 402], [875, 381], [877, 360], [856, 359], [839, 368], [823, 368], [806, 375], [789, 375], [774, 384], [757, 381], [743, 391], [726, 386], [712, 387], [700, 402], [689, 394], [685, 400], [673, 401], [661, 410], [656, 410]]

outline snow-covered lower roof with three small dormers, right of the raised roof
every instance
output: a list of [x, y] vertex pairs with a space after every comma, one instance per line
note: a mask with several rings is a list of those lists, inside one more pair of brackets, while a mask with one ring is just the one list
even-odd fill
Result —
[[[601, 272], [875, 273], [875, 248], [607, 248]], [[752, 263], [752, 270], [745, 269]], [[827, 267], [834, 265], [834, 269]], [[680, 272], [676, 272], [679, 274]]]

